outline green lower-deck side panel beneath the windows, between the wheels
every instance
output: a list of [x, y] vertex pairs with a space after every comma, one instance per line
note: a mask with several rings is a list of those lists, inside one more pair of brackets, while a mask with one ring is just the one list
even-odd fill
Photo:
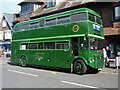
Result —
[[27, 64], [55, 67], [55, 68], [70, 68], [71, 58], [70, 50], [21, 50], [19, 56], [27, 57]]

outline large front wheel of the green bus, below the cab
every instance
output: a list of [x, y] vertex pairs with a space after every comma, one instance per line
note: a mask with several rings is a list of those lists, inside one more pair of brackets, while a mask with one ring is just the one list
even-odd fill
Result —
[[73, 65], [73, 71], [76, 74], [83, 75], [87, 71], [87, 66], [85, 65], [84, 61], [76, 60]]

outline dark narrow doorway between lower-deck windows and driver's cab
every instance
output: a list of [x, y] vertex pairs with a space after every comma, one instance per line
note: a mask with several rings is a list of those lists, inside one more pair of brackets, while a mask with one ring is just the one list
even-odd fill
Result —
[[78, 56], [78, 37], [72, 37], [72, 56]]

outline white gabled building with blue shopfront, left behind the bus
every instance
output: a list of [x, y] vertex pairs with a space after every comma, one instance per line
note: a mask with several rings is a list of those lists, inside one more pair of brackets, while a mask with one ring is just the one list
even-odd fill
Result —
[[12, 39], [13, 14], [3, 13], [0, 23], [0, 56], [10, 53]]

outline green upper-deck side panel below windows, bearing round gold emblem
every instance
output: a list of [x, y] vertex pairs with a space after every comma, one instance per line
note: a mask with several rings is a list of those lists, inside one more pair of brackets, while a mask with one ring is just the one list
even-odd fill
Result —
[[[25, 31], [25, 32], [24, 31], [16, 32], [13, 37], [13, 40], [87, 34], [88, 33], [87, 24], [88, 24], [87, 21], [75, 22], [75, 23], [70, 23], [70, 24], [47, 26], [46, 28], [33, 29], [33, 30]], [[78, 26], [78, 31], [75, 31], [76, 30], [74, 29], [75, 25]]]

